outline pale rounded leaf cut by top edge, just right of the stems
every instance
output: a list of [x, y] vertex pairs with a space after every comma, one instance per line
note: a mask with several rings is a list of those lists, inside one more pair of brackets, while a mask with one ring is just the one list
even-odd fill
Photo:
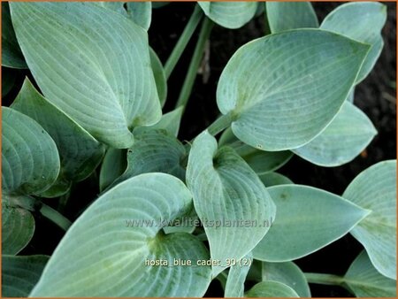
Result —
[[199, 1], [203, 12], [219, 26], [229, 29], [242, 27], [254, 17], [256, 2], [206, 2]]

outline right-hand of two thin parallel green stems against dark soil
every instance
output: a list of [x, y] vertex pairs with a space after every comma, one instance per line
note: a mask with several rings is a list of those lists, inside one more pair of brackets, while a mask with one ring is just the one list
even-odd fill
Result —
[[189, 64], [188, 73], [185, 77], [184, 84], [182, 85], [180, 96], [175, 108], [182, 106], [184, 109], [187, 105], [188, 98], [191, 95], [191, 91], [194, 86], [197, 70], [202, 62], [204, 46], [206, 45], [206, 41], [209, 39], [211, 28], [213, 26], [214, 23], [209, 18], [205, 18], [203, 20], [199, 39], [195, 46], [194, 55]]

